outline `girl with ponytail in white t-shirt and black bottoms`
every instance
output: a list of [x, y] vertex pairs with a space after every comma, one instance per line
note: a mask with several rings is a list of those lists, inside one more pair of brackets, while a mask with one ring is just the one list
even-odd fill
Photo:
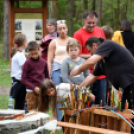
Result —
[[26, 57], [23, 53], [27, 46], [27, 38], [24, 34], [17, 34], [14, 37], [14, 47], [11, 52], [12, 65], [11, 65], [11, 77], [12, 87], [10, 96], [15, 99], [14, 109], [24, 109], [26, 87], [21, 83], [22, 66], [26, 61]]

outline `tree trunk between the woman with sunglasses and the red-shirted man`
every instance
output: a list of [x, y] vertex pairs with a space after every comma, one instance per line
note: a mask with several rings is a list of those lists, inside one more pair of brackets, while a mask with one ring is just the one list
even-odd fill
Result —
[[69, 20], [70, 20], [70, 36], [73, 36], [74, 33], [74, 23], [73, 23], [73, 18], [74, 18], [74, 0], [69, 0]]

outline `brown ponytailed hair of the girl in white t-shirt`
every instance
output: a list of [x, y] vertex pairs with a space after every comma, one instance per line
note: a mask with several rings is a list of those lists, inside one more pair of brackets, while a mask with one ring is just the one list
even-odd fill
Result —
[[24, 45], [25, 41], [26, 41], [26, 36], [24, 34], [21, 34], [21, 33], [16, 34], [13, 40], [14, 47], [12, 48], [11, 58], [19, 50], [19, 47]]

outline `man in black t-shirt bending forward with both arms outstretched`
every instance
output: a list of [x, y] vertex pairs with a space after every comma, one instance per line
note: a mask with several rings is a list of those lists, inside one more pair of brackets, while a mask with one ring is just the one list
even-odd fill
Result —
[[80, 86], [90, 86], [100, 75], [106, 75], [117, 90], [119, 87], [124, 90], [122, 109], [125, 109], [126, 100], [129, 102], [129, 108], [134, 109], [134, 58], [121, 45], [111, 40], [103, 41], [97, 37], [88, 39], [86, 47], [93, 56], [80, 68], [72, 70], [70, 76], [78, 75], [96, 64], [93, 73]]

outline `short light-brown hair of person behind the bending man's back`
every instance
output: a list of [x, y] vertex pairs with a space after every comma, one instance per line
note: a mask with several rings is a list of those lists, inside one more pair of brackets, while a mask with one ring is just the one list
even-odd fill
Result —
[[102, 28], [102, 31], [104, 32], [105, 36], [106, 36], [106, 39], [112, 39], [113, 37], [113, 34], [114, 34], [114, 31], [111, 27], [109, 26], [103, 26]]

